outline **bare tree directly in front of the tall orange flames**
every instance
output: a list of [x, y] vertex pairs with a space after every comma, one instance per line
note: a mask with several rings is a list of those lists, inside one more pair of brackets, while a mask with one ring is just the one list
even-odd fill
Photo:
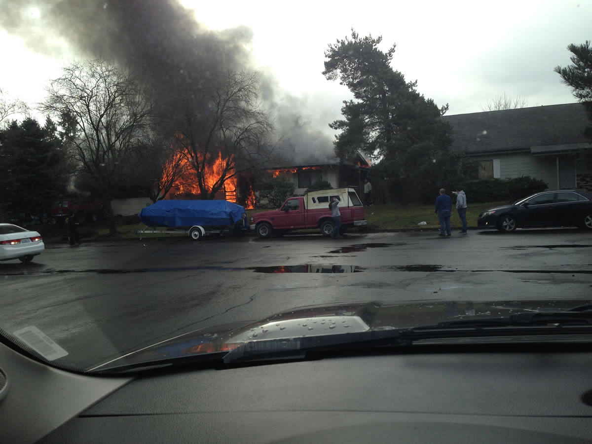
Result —
[[271, 155], [274, 127], [259, 99], [257, 73], [227, 72], [213, 85], [184, 85], [170, 109], [170, 130], [203, 199], [215, 198], [229, 179]]

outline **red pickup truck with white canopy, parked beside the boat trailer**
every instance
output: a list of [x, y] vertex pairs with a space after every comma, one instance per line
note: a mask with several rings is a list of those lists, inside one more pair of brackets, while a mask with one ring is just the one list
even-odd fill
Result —
[[290, 197], [279, 210], [253, 214], [250, 229], [256, 230], [258, 236], [263, 238], [274, 233], [311, 228], [318, 228], [323, 236], [330, 236], [334, 224], [329, 201], [334, 197], [339, 200], [341, 233], [350, 227], [364, 227], [368, 224], [362, 201], [355, 189], [339, 188], [309, 192], [304, 197]]

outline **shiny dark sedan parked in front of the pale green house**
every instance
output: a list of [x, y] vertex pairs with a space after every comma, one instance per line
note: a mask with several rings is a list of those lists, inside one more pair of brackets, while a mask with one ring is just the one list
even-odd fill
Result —
[[592, 230], [592, 194], [571, 190], [540, 192], [511, 205], [483, 211], [477, 226], [507, 232], [517, 228], [574, 226]]

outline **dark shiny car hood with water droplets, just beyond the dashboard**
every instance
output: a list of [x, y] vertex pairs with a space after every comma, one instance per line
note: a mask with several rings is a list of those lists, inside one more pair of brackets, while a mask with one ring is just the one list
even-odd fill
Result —
[[507, 317], [525, 311], [565, 311], [584, 303], [590, 301], [436, 301], [413, 304], [371, 302], [314, 305], [294, 308], [258, 321], [242, 321], [195, 330], [157, 342], [89, 370], [105, 371], [142, 362], [225, 352], [248, 342], [269, 339], [407, 329], [449, 320]]

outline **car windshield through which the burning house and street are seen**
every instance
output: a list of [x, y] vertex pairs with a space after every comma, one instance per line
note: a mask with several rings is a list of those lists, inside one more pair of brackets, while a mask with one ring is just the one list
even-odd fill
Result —
[[592, 2], [0, 4], [14, 349], [107, 371], [590, 303]]

